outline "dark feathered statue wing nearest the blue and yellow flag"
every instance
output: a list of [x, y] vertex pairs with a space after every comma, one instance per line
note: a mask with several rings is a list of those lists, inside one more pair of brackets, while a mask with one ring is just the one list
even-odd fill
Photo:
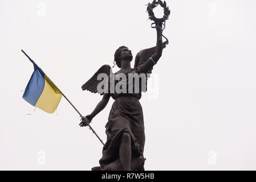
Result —
[[[104, 93], [104, 89], [102, 89], [101, 92], [98, 92], [97, 90], [97, 85], [104, 80], [101, 79], [101, 80], [97, 80], [97, 76], [100, 74], [100, 73], [104, 73], [106, 74], [107, 76], [109, 76], [112, 72], [112, 69], [111, 69], [111, 66], [105, 64], [103, 65], [102, 67], [100, 67], [100, 69], [98, 69], [98, 71], [96, 73], [94, 73], [94, 76], [92, 76], [90, 78], [90, 80], [88, 80], [85, 84], [82, 85], [82, 90], [88, 90], [92, 93], [100, 93], [101, 95], [103, 95]], [[105, 79], [105, 81], [107, 81], [107, 79]], [[105, 84], [104, 84], [105, 85]]]

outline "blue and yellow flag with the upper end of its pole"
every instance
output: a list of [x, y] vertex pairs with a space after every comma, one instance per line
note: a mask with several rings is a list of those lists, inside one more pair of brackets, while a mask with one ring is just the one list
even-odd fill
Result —
[[[23, 50], [22, 52], [25, 53]], [[34, 72], [22, 97], [32, 106], [46, 113], [54, 113], [62, 98], [62, 92], [26, 53], [25, 55], [33, 63]]]

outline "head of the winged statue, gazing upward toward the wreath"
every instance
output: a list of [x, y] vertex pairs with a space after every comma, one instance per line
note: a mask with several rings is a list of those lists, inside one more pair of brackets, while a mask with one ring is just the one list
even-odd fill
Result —
[[132, 61], [132, 51], [125, 46], [119, 47], [115, 52], [115, 61], [117, 67], [121, 68], [121, 60]]

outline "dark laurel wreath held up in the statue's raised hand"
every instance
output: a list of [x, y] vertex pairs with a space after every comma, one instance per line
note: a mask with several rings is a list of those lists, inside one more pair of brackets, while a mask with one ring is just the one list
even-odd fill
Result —
[[[157, 5], [160, 5], [161, 7], [164, 8], [164, 16], [162, 16], [161, 19], [157, 19], [154, 12], [153, 12], [153, 9], [155, 7], [157, 7]], [[170, 15], [170, 10], [169, 10], [169, 6], [166, 7], [166, 2], [162, 2], [161, 0], [154, 0], [152, 3], [148, 3], [148, 6], [147, 7], [147, 12], [148, 12], [148, 15], [149, 15], [149, 19], [153, 20], [153, 21], [157, 21], [157, 20], [161, 20], [161, 22], [165, 22], [165, 20], [167, 20], [169, 18], [169, 15]]]

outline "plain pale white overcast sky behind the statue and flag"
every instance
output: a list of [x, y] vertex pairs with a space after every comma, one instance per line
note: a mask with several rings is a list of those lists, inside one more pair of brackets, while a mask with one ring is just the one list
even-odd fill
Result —
[[[146, 170], [256, 169], [253, 0], [172, 0], [170, 45], [143, 94]], [[22, 99], [33, 72], [21, 49], [83, 115], [101, 96], [80, 87], [113, 54], [156, 44], [148, 1], [0, 0], [0, 169], [90, 170], [102, 144], [62, 98], [47, 114]], [[132, 62], [133, 64], [133, 62]], [[114, 71], [117, 71], [115, 67]], [[150, 85], [149, 85], [150, 86]], [[92, 127], [106, 140], [113, 100]], [[157, 108], [157, 111], [153, 111]]]

